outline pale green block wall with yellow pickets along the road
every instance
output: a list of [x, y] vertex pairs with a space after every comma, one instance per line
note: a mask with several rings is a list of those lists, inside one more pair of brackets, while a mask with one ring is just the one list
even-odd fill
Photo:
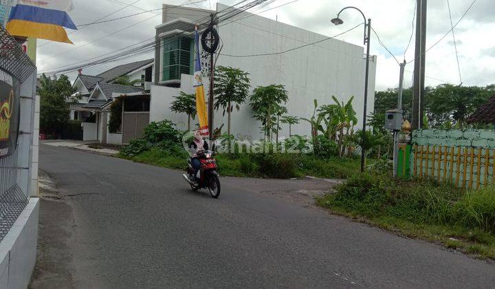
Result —
[[495, 131], [420, 129], [412, 144], [413, 175], [473, 189], [494, 183]]

